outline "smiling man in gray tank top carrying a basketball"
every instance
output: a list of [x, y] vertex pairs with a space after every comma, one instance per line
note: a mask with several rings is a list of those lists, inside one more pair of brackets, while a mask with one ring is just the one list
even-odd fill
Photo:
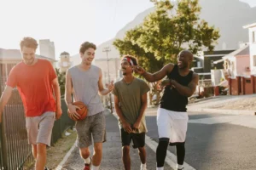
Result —
[[[106, 141], [105, 116], [101, 95], [107, 95], [113, 90], [113, 82], [103, 88], [102, 70], [96, 65], [91, 65], [94, 59], [96, 45], [91, 42], [84, 42], [79, 50], [82, 59], [81, 64], [68, 69], [66, 75], [65, 99], [69, 116], [79, 118], [76, 112], [77, 106], [72, 105], [73, 101], [82, 101], [88, 107], [88, 115], [83, 121], [76, 122], [78, 133], [77, 145], [80, 155], [84, 158], [84, 170], [98, 170], [102, 161], [102, 142]], [[94, 141], [94, 154], [90, 158], [89, 146]]]

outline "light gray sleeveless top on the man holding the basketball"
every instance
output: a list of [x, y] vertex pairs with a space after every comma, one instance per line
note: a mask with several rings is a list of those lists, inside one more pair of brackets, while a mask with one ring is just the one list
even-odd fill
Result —
[[73, 100], [83, 101], [88, 107], [88, 115], [93, 116], [104, 111], [100, 95], [98, 94], [98, 81], [100, 69], [91, 65], [88, 71], [81, 71], [73, 66], [68, 70], [73, 83]]

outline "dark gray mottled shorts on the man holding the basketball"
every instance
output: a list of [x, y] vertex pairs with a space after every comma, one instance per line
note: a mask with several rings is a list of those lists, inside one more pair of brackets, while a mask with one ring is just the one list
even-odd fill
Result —
[[102, 112], [93, 116], [87, 116], [83, 121], [76, 122], [78, 133], [77, 146], [79, 148], [87, 148], [94, 143], [106, 141], [106, 122], [105, 115]]

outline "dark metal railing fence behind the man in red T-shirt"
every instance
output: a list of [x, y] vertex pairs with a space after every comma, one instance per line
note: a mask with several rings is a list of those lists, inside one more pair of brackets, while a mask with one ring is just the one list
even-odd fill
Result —
[[[3, 92], [1, 80], [0, 92]], [[61, 138], [67, 127], [74, 125], [67, 116], [67, 105], [64, 100], [61, 100], [61, 104], [63, 114], [53, 127], [52, 144]], [[3, 122], [0, 123], [0, 149], [0, 170], [20, 170], [23, 169], [25, 162], [32, 161], [32, 147], [27, 143], [24, 109], [16, 88], [3, 111]]]

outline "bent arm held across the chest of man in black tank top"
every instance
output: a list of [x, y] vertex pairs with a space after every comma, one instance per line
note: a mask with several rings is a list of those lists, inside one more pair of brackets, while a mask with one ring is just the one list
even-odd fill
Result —
[[177, 89], [177, 92], [179, 94], [182, 94], [186, 97], [190, 97], [191, 95], [193, 95], [195, 93], [195, 88], [198, 84], [198, 79], [199, 79], [198, 75], [196, 73], [194, 73], [193, 77], [192, 77], [192, 81], [189, 82], [188, 87], [185, 87], [174, 80], [171, 80], [171, 84], [174, 86], [174, 88]]

